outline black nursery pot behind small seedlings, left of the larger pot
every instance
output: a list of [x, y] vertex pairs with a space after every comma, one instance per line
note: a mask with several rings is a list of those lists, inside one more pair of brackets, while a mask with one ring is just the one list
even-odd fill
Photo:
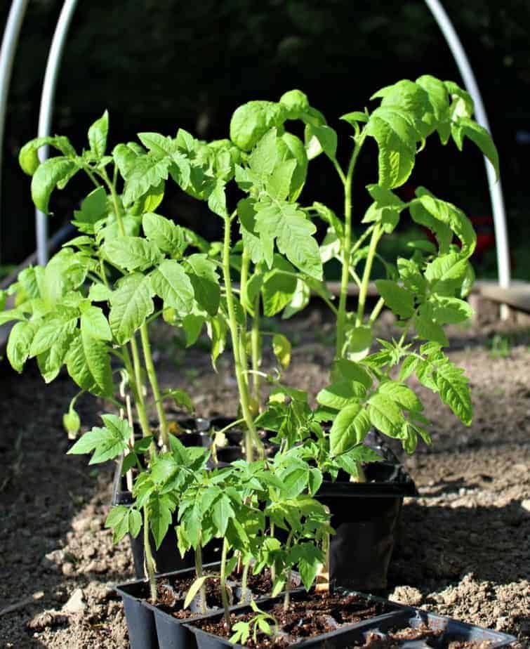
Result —
[[[176, 419], [185, 433], [180, 436], [180, 440], [185, 446], [208, 446], [210, 443], [209, 435], [206, 431], [209, 429], [207, 419], [194, 419], [193, 417], [183, 417]], [[140, 434], [141, 436], [141, 434]], [[114, 471], [114, 483], [112, 485], [112, 505], [131, 505], [133, 497], [126, 487], [125, 476], [121, 476], [121, 466], [123, 458], [117, 462]], [[171, 525], [177, 525], [176, 513], [175, 519]], [[131, 550], [133, 551], [133, 562], [135, 575], [138, 578], [144, 576], [144, 548], [143, 548], [143, 527], [137, 537], [131, 539]], [[150, 535], [151, 547], [153, 549], [154, 562], [157, 565], [157, 572], [171, 572], [173, 570], [185, 570], [193, 568], [194, 558], [191, 552], [186, 553], [184, 557], [176, 551], [176, 541], [173, 535], [166, 535], [159, 547], [155, 549], [154, 539]], [[208, 544], [203, 551], [204, 561], [213, 563], [220, 558], [220, 544]]]

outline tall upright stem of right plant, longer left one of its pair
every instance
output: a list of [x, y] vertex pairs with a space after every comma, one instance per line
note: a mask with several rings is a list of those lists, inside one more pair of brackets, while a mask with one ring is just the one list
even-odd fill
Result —
[[[344, 183], [344, 237], [342, 241], [342, 273], [340, 276], [340, 296], [338, 301], [337, 313], [337, 347], [336, 357], [340, 358], [343, 355], [343, 348], [346, 338], [346, 299], [347, 287], [350, 281], [350, 260], [352, 248], [352, 178], [353, 171], [355, 170], [355, 163], [359, 157], [364, 138], [359, 138], [355, 142], [355, 147], [350, 159], [350, 164], [347, 169], [347, 174]], [[338, 166], [338, 165], [336, 165]], [[340, 169], [340, 168], [339, 168]], [[341, 175], [341, 174], [339, 174]], [[342, 173], [341, 178], [344, 178]]]

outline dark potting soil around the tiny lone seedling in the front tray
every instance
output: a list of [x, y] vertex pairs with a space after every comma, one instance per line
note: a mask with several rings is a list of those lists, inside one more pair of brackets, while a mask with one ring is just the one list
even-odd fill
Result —
[[[293, 595], [286, 611], [283, 608], [283, 602], [279, 602], [272, 609], [267, 610], [267, 613], [272, 615], [277, 622], [275, 636], [270, 637], [260, 631], [257, 643], [251, 639], [246, 643], [246, 646], [252, 648], [289, 647], [289, 645], [307, 638], [335, 631], [342, 624], [355, 624], [362, 619], [382, 615], [387, 610], [385, 603], [367, 601], [358, 595], [342, 596], [327, 593]], [[255, 615], [253, 612], [240, 615], [232, 613], [230, 616], [231, 627], [236, 622], [249, 622]], [[194, 625], [203, 631], [224, 638], [230, 638], [233, 633], [223, 618], [217, 621], [199, 619], [194, 622]]]

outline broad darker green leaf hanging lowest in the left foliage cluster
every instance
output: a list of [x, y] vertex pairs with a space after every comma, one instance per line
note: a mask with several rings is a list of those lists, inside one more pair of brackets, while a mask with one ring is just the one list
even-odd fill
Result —
[[68, 374], [80, 388], [98, 396], [112, 395], [112, 370], [105, 341], [86, 330], [77, 333], [65, 357]]

